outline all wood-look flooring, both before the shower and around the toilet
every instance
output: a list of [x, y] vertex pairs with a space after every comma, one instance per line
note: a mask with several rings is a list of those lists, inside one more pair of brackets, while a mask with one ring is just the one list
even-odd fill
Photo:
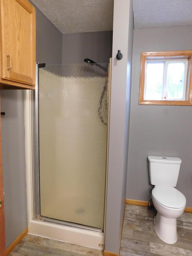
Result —
[[[168, 245], [153, 227], [155, 209], [127, 204], [122, 230], [120, 256], [192, 256], [192, 214], [184, 212], [177, 220], [178, 241]], [[102, 256], [103, 251], [28, 234], [10, 256]]]

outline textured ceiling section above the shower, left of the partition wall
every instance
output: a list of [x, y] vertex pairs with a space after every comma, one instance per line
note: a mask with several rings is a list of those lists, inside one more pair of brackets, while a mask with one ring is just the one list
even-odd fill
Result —
[[31, 0], [62, 33], [113, 30], [113, 0]]

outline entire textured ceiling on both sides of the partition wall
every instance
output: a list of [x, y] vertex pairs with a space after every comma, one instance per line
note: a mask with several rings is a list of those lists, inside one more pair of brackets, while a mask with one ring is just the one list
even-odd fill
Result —
[[[62, 34], [113, 30], [113, 0], [31, 2]], [[133, 0], [133, 6], [134, 29], [192, 24], [192, 0]]]

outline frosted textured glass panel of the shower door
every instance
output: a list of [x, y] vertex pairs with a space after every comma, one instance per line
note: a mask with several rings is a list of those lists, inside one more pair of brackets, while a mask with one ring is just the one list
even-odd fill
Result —
[[40, 215], [103, 230], [108, 77], [87, 65], [39, 69]]

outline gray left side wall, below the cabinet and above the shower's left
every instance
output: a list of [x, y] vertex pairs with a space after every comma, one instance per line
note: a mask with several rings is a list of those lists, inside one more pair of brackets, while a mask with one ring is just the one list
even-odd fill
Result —
[[[37, 62], [61, 64], [62, 34], [36, 9]], [[1, 90], [6, 248], [28, 226], [23, 90]], [[1, 111], [1, 112], [2, 112]]]

